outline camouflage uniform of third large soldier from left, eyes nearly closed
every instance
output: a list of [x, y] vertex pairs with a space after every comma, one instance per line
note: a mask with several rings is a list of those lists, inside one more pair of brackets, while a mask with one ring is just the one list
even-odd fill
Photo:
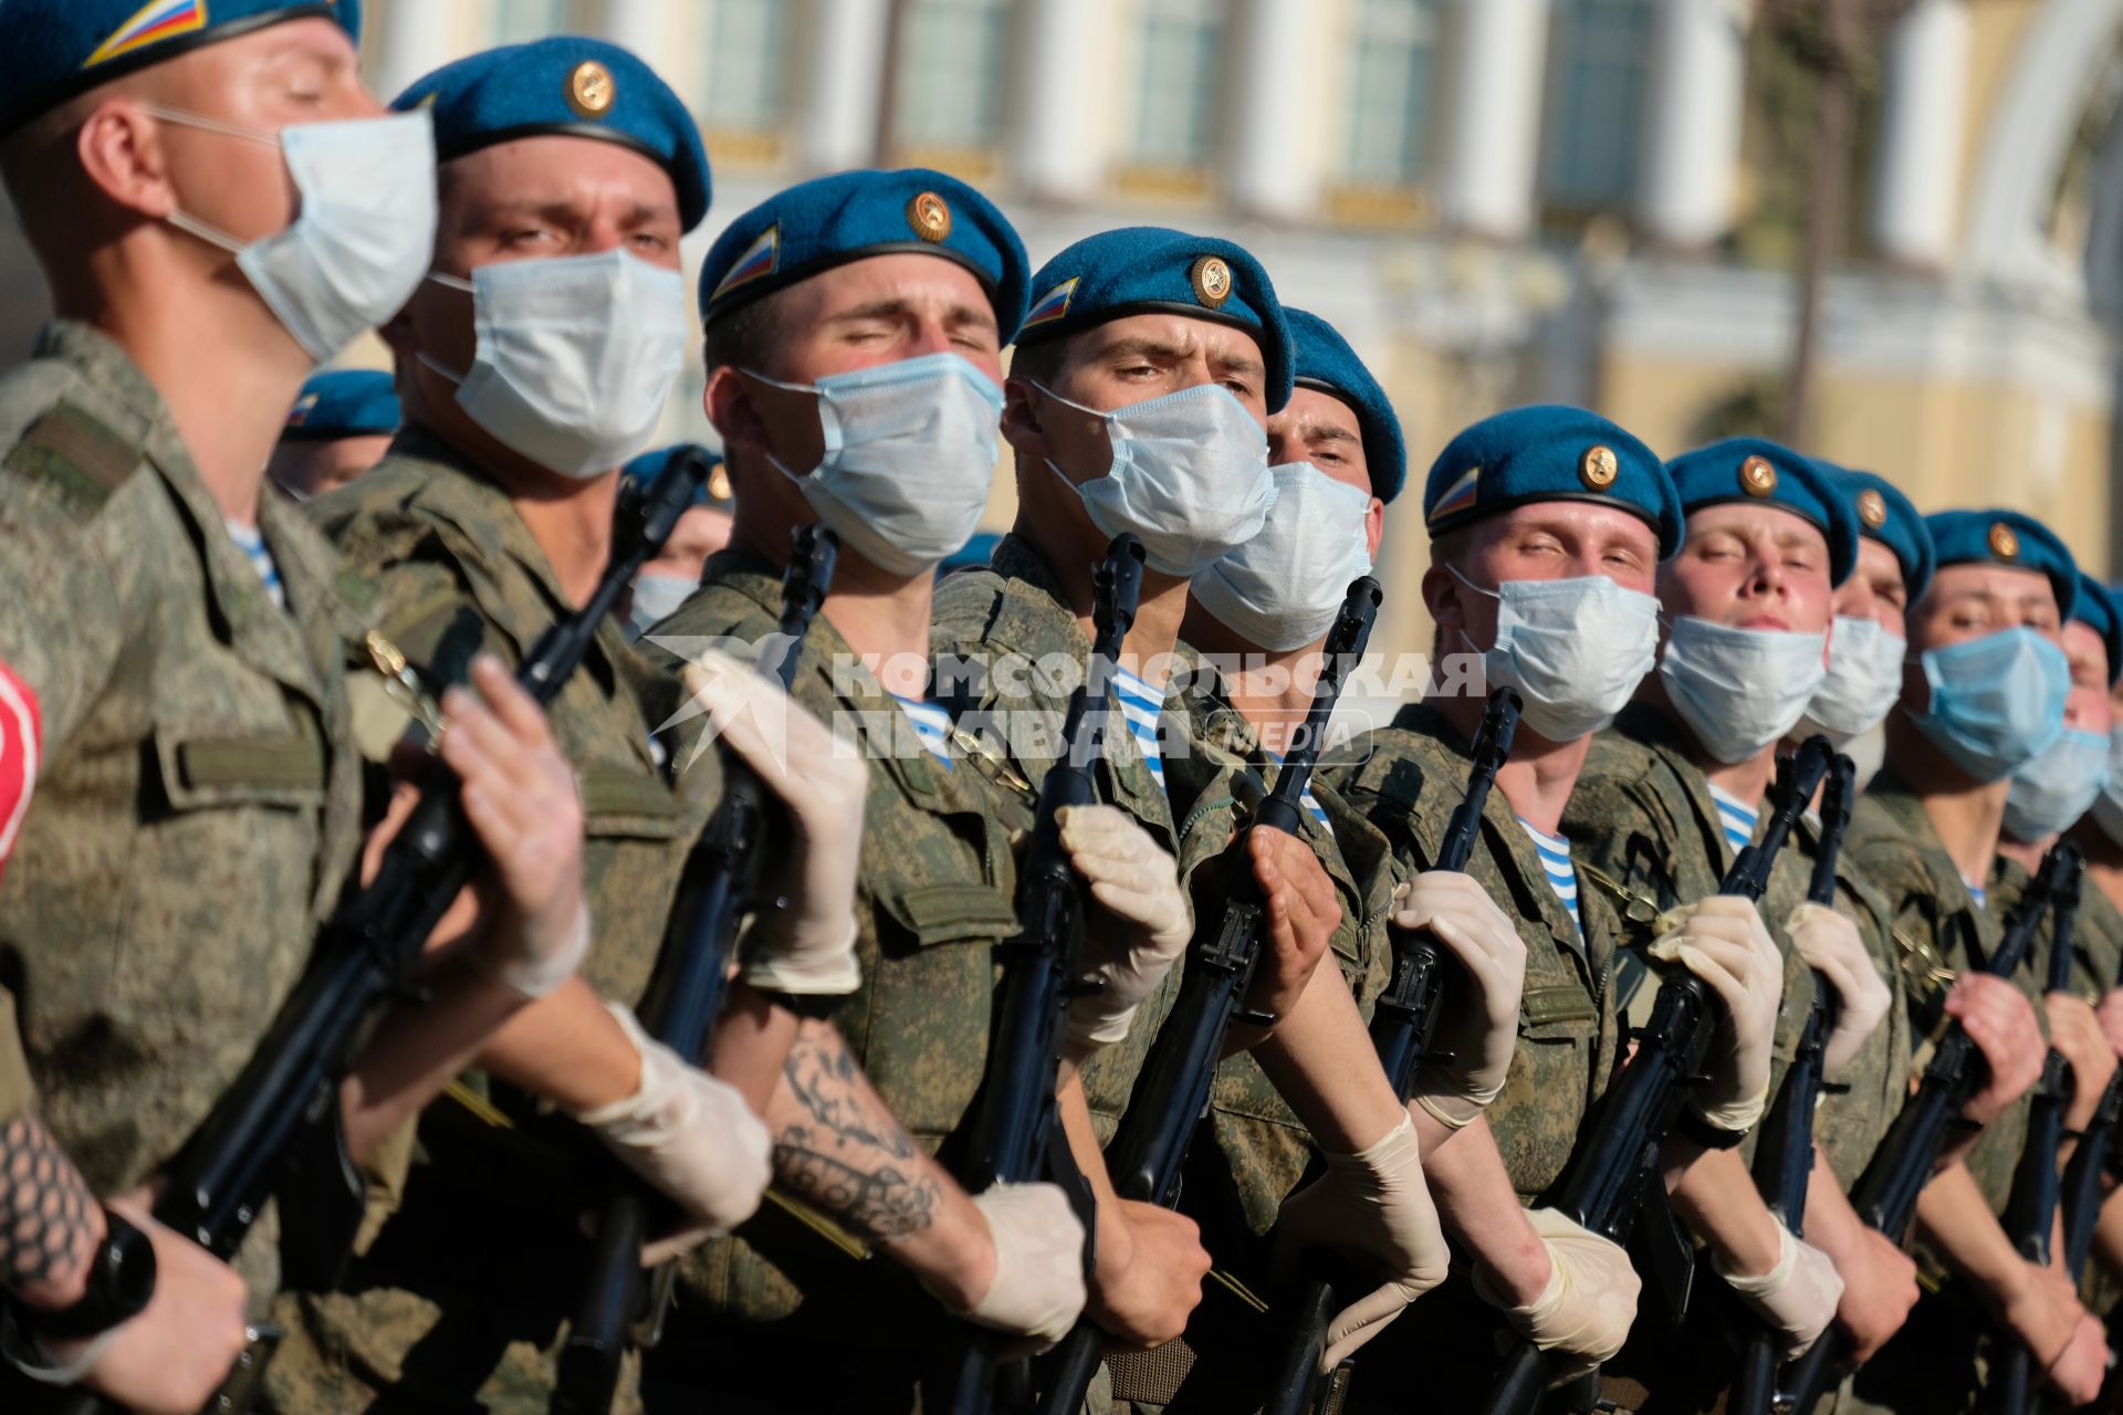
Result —
[[[756, 643], [777, 630], [779, 607], [773, 566], [726, 549], [707, 562], [703, 588], [652, 630], [648, 653], [675, 666], [694, 645]], [[994, 946], [1017, 931], [1013, 849], [1032, 823], [1030, 804], [996, 791], [964, 759], [932, 757], [824, 617], [805, 641], [794, 696], [870, 759], [856, 889], [862, 989], [832, 1023], [907, 1131], [951, 1165], [987, 1065]], [[711, 1313], [749, 1326], [684, 1320], [681, 1307], [650, 1381], [698, 1379], [718, 1392], [758, 1381], [749, 1394], [790, 1409], [860, 1400], [902, 1411], [909, 1364], [951, 1330], [900, 1269], [875, 1260], [858, 1269], [775, 1207], [690, 1258], [688, 1281]], [[847, 1349], [851, 1337], [862, 1351]]]

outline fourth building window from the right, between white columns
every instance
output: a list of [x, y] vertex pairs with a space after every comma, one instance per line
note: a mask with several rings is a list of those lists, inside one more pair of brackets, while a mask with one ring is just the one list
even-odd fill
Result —
[[1008, 0], [909, 0], [892, 87], [892, 142], [951, 153], [1002, 146]]

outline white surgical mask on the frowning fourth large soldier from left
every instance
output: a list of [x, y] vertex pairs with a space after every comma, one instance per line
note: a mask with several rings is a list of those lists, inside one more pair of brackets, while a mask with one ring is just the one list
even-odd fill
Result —
[[1106, 475], [1076, 486], [1049, 467], [1083, 496], [1093, 526], [1108, 537], [1134, 532], [1153, 571], [1193, 579], [1259, 535], [1276, 505], [1267, 433], [1221, 384], [1180, 388], [1110, 414], [1034, 388], [1104, 420], [1112, 443]]

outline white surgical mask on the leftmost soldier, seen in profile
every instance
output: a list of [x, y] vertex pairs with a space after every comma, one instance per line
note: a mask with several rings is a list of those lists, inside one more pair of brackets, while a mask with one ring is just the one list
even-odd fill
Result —
[[425, 108], [280, 132], [144, 108], [170, 123], [280, 149], [301, 193], [293, 225], [255, 242], [189, 212], [172, 212], [170, 225], [236, 255], [259, 299], [318, 363], [389, 320], [420, 289], [435, 257], [435, 127]]

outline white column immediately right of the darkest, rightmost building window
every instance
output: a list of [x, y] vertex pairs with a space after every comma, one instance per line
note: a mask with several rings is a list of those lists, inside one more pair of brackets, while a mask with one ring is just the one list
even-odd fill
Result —
[[1749, 19], [1745, 0], [1658, 0], [1637, 221], [1669, 246], [1732, 229]]

